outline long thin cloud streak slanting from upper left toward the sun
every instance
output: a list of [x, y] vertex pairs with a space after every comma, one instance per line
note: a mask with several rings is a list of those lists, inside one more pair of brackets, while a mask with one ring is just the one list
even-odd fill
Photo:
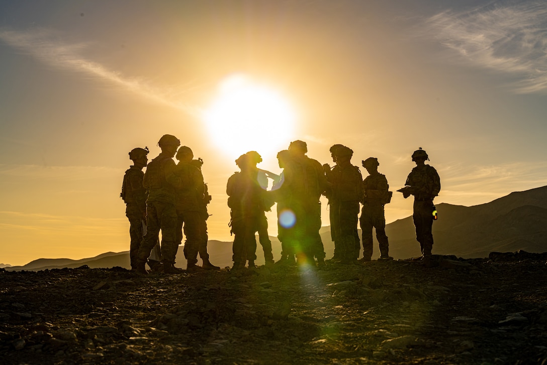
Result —
[[156, 88], [141, 78], [130, 78], [120, 72], [109, 70], [108, 67], [85, 59], [81, 53], [90, 47], [88, 43], [65, 43], [59, 40], [55, 32], [50, 30], [13, 31], [0, 30], [0, 41], [19, 49], [28, 55], [53, 67], [82, 72], [88, 76], [108, 82], [126, 91], [144, 98], [181, 109], [190, 115], [197, 115], [199, 108], [178, 100], [181, 90], [174, 92]]

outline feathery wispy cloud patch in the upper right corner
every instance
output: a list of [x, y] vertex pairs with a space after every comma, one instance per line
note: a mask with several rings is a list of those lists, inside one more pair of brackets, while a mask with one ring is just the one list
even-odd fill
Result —
[[547, 92], [547, 2], [493, 2], [465, 13], [429, 18], [446, 47], [485, 69], [517, 79], [516, 93]]

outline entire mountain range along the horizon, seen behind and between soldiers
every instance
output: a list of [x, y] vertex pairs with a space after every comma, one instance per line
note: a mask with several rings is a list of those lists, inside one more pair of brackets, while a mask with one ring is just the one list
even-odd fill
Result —
[[[547, 186], [513, 192], [490, 203], [464, 207], [447, 203], [437, 206], [439, 220], [433, 223], [433, 253], [456, 255], [463, 258], [484, 258], [490, 252], [515, 252], [525, 250], [532, 253], [547, 252]], [[327, 259], [333, 256], [334, 242], [330, 239], [330, 227], [321, 227]], [[399, 219], [386, 226], [389, 237], [389, 255], [395, 259], [420, 256], [420, 244], [412, 217]], [[360, 230], [359, 230], [360, 236]], [[374, 233], [373, 233], [374, 236]], [[271, 237], [274, 259], [281, 255], [281, 243]], [[211, 263], [220, 267], [232, 265], [232, 243], [211, 240], [208, 243]], [[378, 243], [374, 237], [373, 259], [379, 256]], [[199, 259], [201, 263], [201, 260]], [[264, 264], [264, 254], [258, 243], [258, 265]], [[91, 268], [120, 266], [130, 269], [129, 252], [107, 252], [93, 258], [38, 259], [24, 266], [5, 266], [5, 270], [61, 269], [88, 265]], [[177, 253], [177, 266], [185, 267], [182, 246]], [[1, 266], [0, 266], [1, 267]]]

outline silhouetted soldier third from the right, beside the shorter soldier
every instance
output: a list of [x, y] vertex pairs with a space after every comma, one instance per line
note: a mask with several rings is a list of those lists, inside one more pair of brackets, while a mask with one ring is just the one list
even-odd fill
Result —
[[359, 202], [363, 196], [362, 175], [357, 166], [351, 164], [353, 151], [346, 146], [334, 150], [336, 166], [329, 174], [329, 197], [331, 229], [335, 227], [338, 257], [334, 262], [354, 264], [359, 256], [359, 242], [355, 230], [359, 216]]

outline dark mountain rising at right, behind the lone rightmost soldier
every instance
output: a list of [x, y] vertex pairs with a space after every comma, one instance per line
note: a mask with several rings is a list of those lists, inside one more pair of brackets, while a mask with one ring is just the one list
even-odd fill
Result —
[[[433, 223], [435, 254], [482, 258], [493, 251], [547, 251], [547, 186], [513, 192], [472, 207], [441, 203], [437, 211], [439, 220]], [[394, 258], [420, 255], [412, 217], [387, 225], [386, 233]]]

